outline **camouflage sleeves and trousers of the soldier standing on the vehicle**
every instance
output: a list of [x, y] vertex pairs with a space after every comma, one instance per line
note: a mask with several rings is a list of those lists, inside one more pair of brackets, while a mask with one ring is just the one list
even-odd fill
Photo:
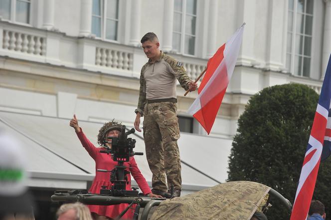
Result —
[[[175, 91], [175, 79], [177, 79], [180, 85], [187, 90], [187, 84], [191, 80], [187, 76], [182, 64], [162, 51], [159, 60], [155, 64], [161, 62], [171, 68], [170, 72], [165, 73], [165, 77], [171, 77], [171, 80], [174, 82], [168, 89], [174, 89]], [[149, 88], [147, 88], [148, 85], [144, 74], [149, 67], [152, 68], [152, 65], [154, 71], [154, 64], [150, 63], [150, 61], [142, 67], [139, 102], [138, 108], [135, 111], [136, 113], [139, 112], [141, 116], [144, 116], [144, 140], [147, 161], [153, 173], [152, 187], [163, 192], [166, 192], [167, 187], [170, 188], [170, 186], [181, 190], [181, 166], [177, 145], [179, 126], [176, 114], [177, 104], [175, 103], [175, 94], [171, 98], [161, 96], [157, 99], [147, 99], [146, 91]], [[162, 69], [161, 72], [164, 71], [165, 69]], [[163, 78], [164, 76], [162, 75], [161, 77]], [[155, 80], [162, 81], [160, 78]]]

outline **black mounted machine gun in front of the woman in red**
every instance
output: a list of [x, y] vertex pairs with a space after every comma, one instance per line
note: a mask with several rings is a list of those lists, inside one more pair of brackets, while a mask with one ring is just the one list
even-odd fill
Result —
[[[132, 128], [130, 131], [125, 132], [125, 125], [122, 125], [122, 132], [119, 137], [107, 137], [107, 140], [111, 141], [104, 142], [105, 150], [100, 150], [101, 153], [110, 154], [114, 161], [117, 161], [117, 166], [113, 170], [101, 170], [98, 172], [110, 172], [110, 182], [113, 183], [111, 190], [103, 189], [100, 190], [101, 195], [108, 196], [138, 196], [138, 191], [134, 188], [133, 191], [126, 190], [126, 185], [129, 183], [128, 176], [130, 172], [126, 171], [127, 168], [124, 166], [124, 162], [128, 162], [130, 157], [134, 155], [144, 155], [141, 152], [134, 152], [133, 149], [136, 145], [136, 140], [128, 138], [128, 135], [135, 133], [135, 129]], [[106, 144], [111, 143], [112, 147], [109, 148]]]

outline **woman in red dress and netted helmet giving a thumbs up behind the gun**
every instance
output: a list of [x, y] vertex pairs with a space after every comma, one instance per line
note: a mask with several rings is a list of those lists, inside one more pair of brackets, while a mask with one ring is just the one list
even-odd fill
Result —
[[[100, 153], [100, 148], [95, 147], [87, 139], [87, 137], [83, 133], [83, 130], [78, 125], [76, 115], [74, 115], [74, 118], [70, 120], [69, 125], [75, 129], [77, 137], [79, 138], [83, 147], [95, 161], [96, 175], [93, 180], [92, 186], [89, 189], [89, 192], [93, 194], [100, 194], [100, 189], [102, 186], [106, 186], [106, 189], [111, 189], [112, 183], [110, 182], [110, 173], [97, 172], [97, 170], [112, 170], [117, 165], [117, 162], [115, 162], [108, 154]], [[115, 121], [105, 123], [99, 130], [98, 144], [102, 146], [108, 137], [118, 137], [121, 133], [121, 127], [121, 123]], [[106, 145], [111, 148], [111, 144], [107, 143]], [[124, 166], [127, 167], [127, 171], [130, 171], [131, 175], [136, 180], [139, 188], [142, 190], [144, 195], [148, 195], [155, 198], [162, 198], [161, 196], [152, 193], [144, 176], [140, 172], [134, 157], [131, 157], [129, 162], [125, 162]], [[131, 175], [127, 175], [129, 184], [126, 185], [126, 190], [131, 190]], [[128, 207], [128, 204], [119, 204], [112, 206], [89, 205], [88, 207], [95, 220], [110, 220], [116, 218], [126, 207]], [[132, 218], [132, 210], [129, 210], [123, 216], [123, 219]]]

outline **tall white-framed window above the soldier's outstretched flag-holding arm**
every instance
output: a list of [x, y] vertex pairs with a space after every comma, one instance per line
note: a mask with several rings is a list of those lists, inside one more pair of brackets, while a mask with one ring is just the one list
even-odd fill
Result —
[[194, 55], [196, 0], [174, 0], [172, 50]]

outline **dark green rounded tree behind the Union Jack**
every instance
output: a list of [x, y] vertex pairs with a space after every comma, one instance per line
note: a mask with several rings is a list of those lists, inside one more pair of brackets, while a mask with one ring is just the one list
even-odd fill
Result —
[[[313, 89], [300, 84], [276, 85], [254, 95], [238, 120], [228, 181], [265, 184], [293, 204], [318, 98]], [[322, 171], [329, 179], [321, 176]], [[331, 201], [331, 194], [329, 198], [324, 196], [330, 178], [331, 166], [327, 162], [321, 165], [318, 196], [314, 195], [324, 204], [326, 199]], [[276, 200], [272, 202], [275, 208], [268, 211], [269, 220], [288, 219], [285, 207]]]

